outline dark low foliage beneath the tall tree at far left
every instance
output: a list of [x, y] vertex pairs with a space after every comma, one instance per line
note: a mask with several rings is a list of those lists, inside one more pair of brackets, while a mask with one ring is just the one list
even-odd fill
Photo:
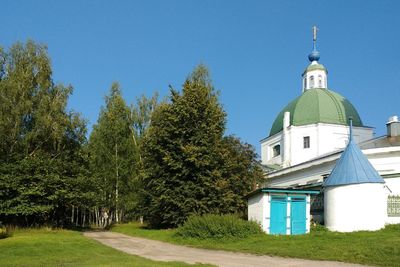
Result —
[[2, 215], [13, 224], [68, 224], [70, 206], [88, 208], [94, 196], [83, 167], [45, 155], [1, 164]]

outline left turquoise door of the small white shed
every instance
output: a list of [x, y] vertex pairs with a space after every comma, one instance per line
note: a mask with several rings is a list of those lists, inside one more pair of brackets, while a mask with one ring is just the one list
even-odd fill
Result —
[[270, 234], [286, 234], [286, 196], [271, 196]]

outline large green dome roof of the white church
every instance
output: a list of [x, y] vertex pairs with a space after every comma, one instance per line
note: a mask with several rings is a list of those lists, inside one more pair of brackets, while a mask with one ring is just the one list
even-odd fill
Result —
[[291, 101], [276, 117], [269, 136], [283, 129], [283, 116], [290, 112], [290, 125], [300, 126], [314, 123], [348, 125], [353, 118], [354, 126], [363, 126], [354, 106], [343, 96], [328, 89], [309, 89]]

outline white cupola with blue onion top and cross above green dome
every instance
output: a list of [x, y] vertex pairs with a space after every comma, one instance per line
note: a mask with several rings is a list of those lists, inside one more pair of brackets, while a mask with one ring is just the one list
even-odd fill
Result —
[[309, 89], [327, 89], [328, 71], [318, 62], [320, 53], [317, 51], [317, 27], [313, 27], [313, 51], [308, 55], [310, 65], [303, 72], [303, 93]]

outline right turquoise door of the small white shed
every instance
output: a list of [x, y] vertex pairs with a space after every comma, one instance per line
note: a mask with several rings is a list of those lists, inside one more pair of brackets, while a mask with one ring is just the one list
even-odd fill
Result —
[[306, 233], [306, 198], [292, 197], [290, 207], [290, 229], [292, 235]]

